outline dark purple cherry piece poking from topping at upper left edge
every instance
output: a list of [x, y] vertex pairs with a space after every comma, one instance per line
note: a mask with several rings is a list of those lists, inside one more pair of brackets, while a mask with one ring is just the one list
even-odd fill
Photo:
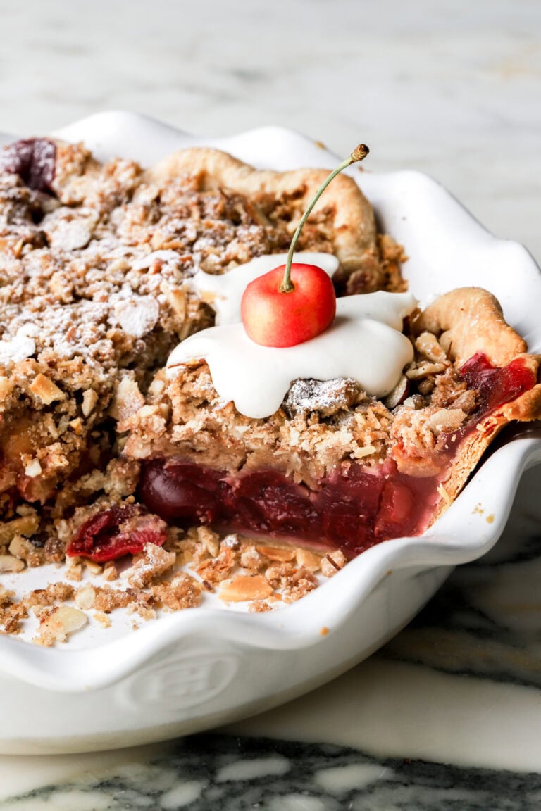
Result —
[[28, 138], [0, 150], [0, 171], [18, 174], [35, 191], [53, 192], [56, 146], [46, 138]]

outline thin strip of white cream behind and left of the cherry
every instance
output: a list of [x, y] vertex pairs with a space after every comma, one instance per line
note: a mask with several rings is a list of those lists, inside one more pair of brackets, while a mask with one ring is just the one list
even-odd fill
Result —
[[[287, 254], [270, 254], [257, 256], [246, 264], [239, 264], [220, 276], [205, 273], [203, 270], [195, 273], [189, 284], [200, 298], [212, 307], [216, 313], [216, 325], [238, 324], [241, 320], [240, 303], [244, 290], [251, 281], [263, 276], [273, 268], [286, 264]], [[294, 253], [293, 261], [302, 264], [316, 264], [330, 277], [338, 269], [338, 260], [333, 254], [312, 253], [309, 251]]]

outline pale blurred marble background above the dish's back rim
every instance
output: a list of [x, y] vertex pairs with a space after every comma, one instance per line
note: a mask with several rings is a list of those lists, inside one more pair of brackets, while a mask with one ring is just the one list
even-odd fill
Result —
[[0, 129], [131, 109], [200, 135], [265, 123], [438, 178], [541, 257], [536, 0], [0, 2]]

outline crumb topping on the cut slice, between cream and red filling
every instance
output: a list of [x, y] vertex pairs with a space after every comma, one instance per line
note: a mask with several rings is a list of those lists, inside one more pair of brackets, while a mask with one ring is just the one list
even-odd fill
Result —
[[124, 453], [204, 458], [231, 473], [272, 468], [311, 486], [351, 461], [380, 465], [399, 446], [406, 470], [405, 457], [431, 460], [478, 406], [432, 333], [411, 340], [414, 361], [385, 401], [354, 380], [295, 380], [281, 409], [265, 419], [222, 401], [204, 362], [187, 364], [173, 380], [160, 372], [148, 405], [127, 421]]

